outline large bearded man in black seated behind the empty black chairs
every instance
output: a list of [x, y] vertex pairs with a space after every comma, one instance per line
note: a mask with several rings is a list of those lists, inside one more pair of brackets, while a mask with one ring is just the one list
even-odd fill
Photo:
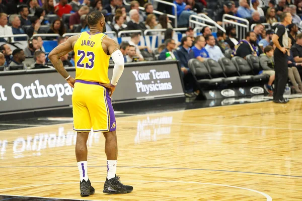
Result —
[[240, 56], [246, 59], [246, 56], [252, 54], [254, 56], [259, 56], [262, 54], [261, 48], [256, 43], [257, 37], [254, 32], [246, 33], [246, 38], [239, 41], [238, 45], [235, 46], [235, 51], [233, 55]]

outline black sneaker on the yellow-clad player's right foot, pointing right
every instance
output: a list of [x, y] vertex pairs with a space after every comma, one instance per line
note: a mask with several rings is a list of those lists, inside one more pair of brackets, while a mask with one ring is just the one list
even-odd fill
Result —
[[133, 190], [132, 186], [122, 184], [119, 178], [120, 177], [116, 175], [111, 179], [106, 178], [103, 192], [108, 194], [118, 194], [118, 193], [128, 193]]

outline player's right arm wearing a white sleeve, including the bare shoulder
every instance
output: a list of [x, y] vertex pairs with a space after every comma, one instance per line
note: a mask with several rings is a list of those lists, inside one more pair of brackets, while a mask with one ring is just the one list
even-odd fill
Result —
[[114, 61], [113, 75], [110, 83], [113, 86], [116, 86], [119, 78], [121, 77], [124, 71], [124, 65], [125, 65], [124, 56], [120, 51], [120, 47], [117, 41], [109, 37], [105, 37], [103, 39], [103, 43], [107, 46], [107, 50], [111, 55], [112, 60]]

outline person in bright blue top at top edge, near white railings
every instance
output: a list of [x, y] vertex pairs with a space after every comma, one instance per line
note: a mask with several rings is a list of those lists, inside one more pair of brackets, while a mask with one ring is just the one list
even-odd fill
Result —
[[[177, 8], [177, 22], [179, 27], [187, 27], [189, 25], [190, 15], [197, 15], [192, 11], [190, 5], [186, 5], [183, 0], [174, 0], [173, 4]], [[172, 10], [172, 15], [175, 15], [174, 9]]]

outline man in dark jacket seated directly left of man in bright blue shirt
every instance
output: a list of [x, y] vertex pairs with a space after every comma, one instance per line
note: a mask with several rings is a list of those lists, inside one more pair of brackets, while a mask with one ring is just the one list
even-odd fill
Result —
[[179, 56], [181, 71], [186, 75], [190, 69], [188, 66], [188, 62], [190, 59], [195, 58], [193, 50], [190, 48], [192, 46], [192, 39], [189, 36], [185, 36], [181, 39], [181, 46], [177, 50], [177, 54]]

